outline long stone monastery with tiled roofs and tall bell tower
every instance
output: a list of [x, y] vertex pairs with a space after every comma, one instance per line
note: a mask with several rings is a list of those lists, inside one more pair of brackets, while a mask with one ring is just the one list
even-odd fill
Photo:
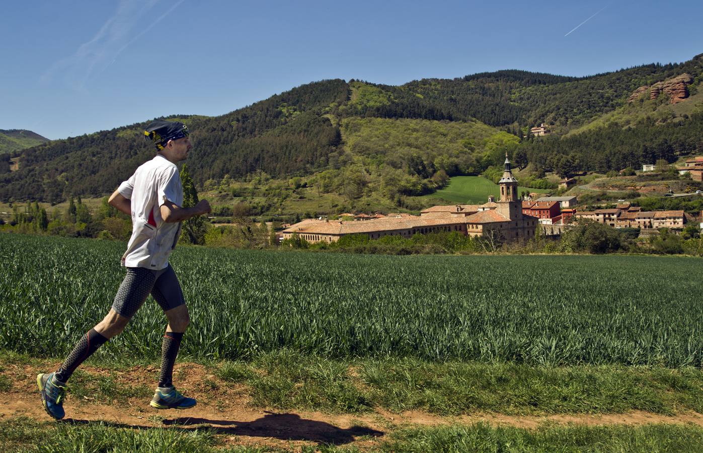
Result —
[[283, 230], [283, 238], [297, 235], [308, 242], [336, 242], [347, 234], [366, 234], [372, 239], [383, 236], [410, 238], [413, 234], [458, 231], [468, 236], [493, 236], [503, 241], [534, 237], [536, 217], [524, 215], [517, 198], [517, 179], [512, 175], [510, 160], [505, 156], [503, 177], [498, 181], [501, 199], [490, 197], [483, 205], [433, 206], [419, 216], [389, 215], [363, 222], [346, 220], [305, 219]]

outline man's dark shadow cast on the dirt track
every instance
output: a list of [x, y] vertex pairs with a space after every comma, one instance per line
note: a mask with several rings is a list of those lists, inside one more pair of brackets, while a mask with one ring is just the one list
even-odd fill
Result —
[[[110, 421], [65, 419], [63, 423], [110, 426], [112, 428], [159, 429], [157, 426], [138, 426], [129, 423], [114, 423]], [[248, 435], [260, 438], [276, 438], [280, 440], [309, 440], [312, 442], [344, 445], [354, 442], [356, 437], [369, 435], [380, 437], [382, 431], [364, 426], [352, 426], [342, 429], [324, 421], [302, 419], [297, 414], [266, 414], [254, 421], [211, 420], [198, 417], [179, 417], [166, 419], [162, 423], [175, 428], [192, 425], [212, 425], [210, 429], [217, 434]], [[226, 426], [227, 428], [223, 428]], [[189, 430], [192, 428], [183, 428]]]

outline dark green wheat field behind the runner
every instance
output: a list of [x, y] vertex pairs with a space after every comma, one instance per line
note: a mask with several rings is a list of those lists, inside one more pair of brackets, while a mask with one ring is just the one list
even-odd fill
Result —
[[[61, 356], [105, 315], [124, 243], [0, 234], [0, 348]], [[701, 261], [638, 256], [378, 256], [181, 247], [183, 352], [536, 365], [703, 364]], [[151, 298], [103, 355], [155, 357]]]

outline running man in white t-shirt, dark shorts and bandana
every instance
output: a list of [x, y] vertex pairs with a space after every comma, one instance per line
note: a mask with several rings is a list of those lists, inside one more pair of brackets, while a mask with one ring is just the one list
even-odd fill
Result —
[[56, 372], [37, 376], [44, 409], [54, 419], [65, 415], [66, 382], [73, 371], [124, 330], [149, 293], [169, 322], [161, 348], [159, 383], [150, 405], [157, 409], [195, 406], [195, 400], [181, 395], [172, 383], [173, 366], [189, 319], [181, 286], [168, 259], [181, 234], [181, 222], [207, 214], [210, 205], [202, 200], [193, 208], [181, 208], [183, 187], [176, 162], [185, 159], [193, 147], [188, 128], [180, 122], [155, 121], [144, 135], [155, 144], [157, 155], [138, 167], [109, 200], [110, 205], [131, 215], [132, 235], [122, 256], [127, 276], [108, 315], [79, 340]]

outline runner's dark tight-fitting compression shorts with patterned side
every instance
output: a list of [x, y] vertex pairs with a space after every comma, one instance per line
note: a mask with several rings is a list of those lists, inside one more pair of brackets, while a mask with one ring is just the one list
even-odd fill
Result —
[[112, 302], [112, 310], [131, 318], [149, 293], [165, 312], [186, 303], [183, 291], [171, 264], [155, 271], [146, 267], [127, 267], [127, 275]]

